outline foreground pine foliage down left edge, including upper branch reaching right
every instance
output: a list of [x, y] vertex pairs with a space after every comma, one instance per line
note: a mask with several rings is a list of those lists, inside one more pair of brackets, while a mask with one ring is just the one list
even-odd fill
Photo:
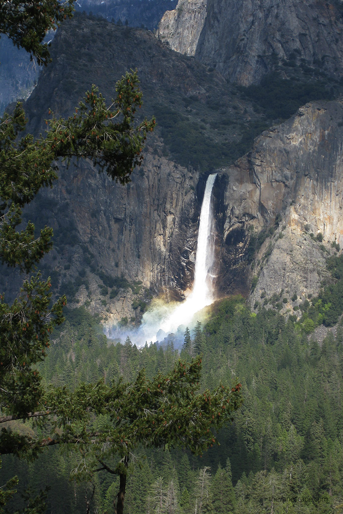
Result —
[[[80, 114], [66, 121], [53, 118], [46, 138], [38, 140], [33, 140], [30, 135], [18, 139], [26, 123], [20, 104], [13, 115], [4, 115], [0, 121], [2, 263], [28, 272], [50, 250], [50, 228], [41, 230], [40, 236], [35, 237], [31, 222], [20, 230], [18, 227], [21, 226], [23, 206], [41, 187], [51, 186], [55, 180], [52, 163], [56, 158], [88, 156], [112, 178], [128, 180], [132, 166], [141, 162], [139, 156], [146, 132], [154, 125], [153, 121], [145, 120], [132, 131], [133, 114], [141, 102], [137, 84], [136, 74], [126, 74], [118, 82], [117, 100], [111, 106], [114, 111], [105, 107], [102, 96], [97, 96], [97, 90], [93, 88], [86, 94], [85, 103], [80, 104]], [[111, 121], [120, 116], [121, 121]], [[77, 285], [70, 284], [71, 296]], [[50, 305], [50, 286], [50, 279], [44, 282], [37, 274], [23, 283], [20, 296], [12, 305], [0, 297], [0, 374], [5, 388], [1, 408], [16, 415], [24, 415], [39, 405], [40, 377], [32, 365], [44, 358], [49, 334], [63, 319], [62, 306], [66, 298]]]

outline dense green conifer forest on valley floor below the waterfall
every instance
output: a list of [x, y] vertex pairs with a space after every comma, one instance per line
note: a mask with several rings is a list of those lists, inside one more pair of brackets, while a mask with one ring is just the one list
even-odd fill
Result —
[[[172, 344], [164, 349], [156, 344], [138, 349], [129, 339], [108, 344], [83, 308], [71, 311], [59, 331], [41, 366], [45, 380], [55, 384], [74, 387], [119, 376], [132, 380], [142, 368], [153, 376], [179, 357]], [[186, 331], [181, 355], [203, 354], [204, 388], [239, 376], [243, 407], [221, 432], [221, 446], [201, 458], [168, 449], [138, 451], [128, 478], [126, 512], [339, 511], [342, 342], [341, 326], [335, 337], [329, 333], [318, 344], [274, 310], [253, 314], [240, 297], [216, 304], [203, 329], [198, 323], [193, 332]], [[67, 450], [53, 451], [53, 458], [49, 450], [30, 464], [8, 458], [4, 467], [10, 476], [20, 466], [23, 486], [39, 488], [50, 475], [54, 487], [48, 506], [55, 514], [86, 512], [92, 485], [69, 484], [76, 464]], [[93, 485], [91, 508], [111, 512], [118, 488], [113, 475], [96, 473]]]

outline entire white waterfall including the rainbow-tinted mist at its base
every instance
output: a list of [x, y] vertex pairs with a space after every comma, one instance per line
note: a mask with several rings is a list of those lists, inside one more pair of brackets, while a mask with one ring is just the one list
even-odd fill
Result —
[[153, 342], [168, 344], [173, 342], [180, 348], [184, 342], [186, 327], [192, 331], [196, 322], [206, 318], [205, 307], [211, 305], [215, 298], [213, 292], [212, 272], [214, 264], [213, 215], [211, 207], [212, 189], [217, 174], [209, 175], [206, 181], [204, 198], [201, 206], [198, 232], [194, 284], [185, 292], [183, 302], [165, 303], [155, 299], [149, 310], [144, 313], [138, 328], [107, 329], [107, 337], [124, 342], [127, 337], [137, 347]]

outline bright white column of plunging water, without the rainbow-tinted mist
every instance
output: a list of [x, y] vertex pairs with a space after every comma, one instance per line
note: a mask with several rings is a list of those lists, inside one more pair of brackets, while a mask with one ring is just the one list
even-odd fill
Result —
[[195, 261], [193, 289], [184, 302], [178, 305], [160, 327], [166, 334], [176, 331], [179, 325], [188, 324], [194, 315], [213, 300], [211, 268], [214, 260], [213, 216], [211, 208], [212, 189], [217, 173], [209, 175], [202, 200], [198, 243]]

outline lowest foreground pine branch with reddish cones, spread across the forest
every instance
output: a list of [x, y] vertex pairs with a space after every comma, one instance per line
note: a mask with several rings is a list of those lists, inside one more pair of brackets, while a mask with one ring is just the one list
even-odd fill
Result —
[[[179, 361], [172, 372], [153, 379], [141, 371], [132, 383], [81, 384], [72, 394], [66, 388], [54, 388], [46, 398], [49, 411], [58, 416], [59, 432], [53, 440], [90, 444], [89, 450], [97, 454], [97, 448], [100, 452], [110, 438], [111, 447], [106, 453], [102, 450], [102, 460], [117, 452], [121, 458], [128, 457], [140, 444], [168, 443], [199, 453], [216, 442], [216, 431], [241, 403], [240, 384], [199, 394], [200, 371], [198, 358], [190, 364]], [[106, 415], [95, 442], [94, 414]], [[116, 469], [121, 469], [120, 461]]]

